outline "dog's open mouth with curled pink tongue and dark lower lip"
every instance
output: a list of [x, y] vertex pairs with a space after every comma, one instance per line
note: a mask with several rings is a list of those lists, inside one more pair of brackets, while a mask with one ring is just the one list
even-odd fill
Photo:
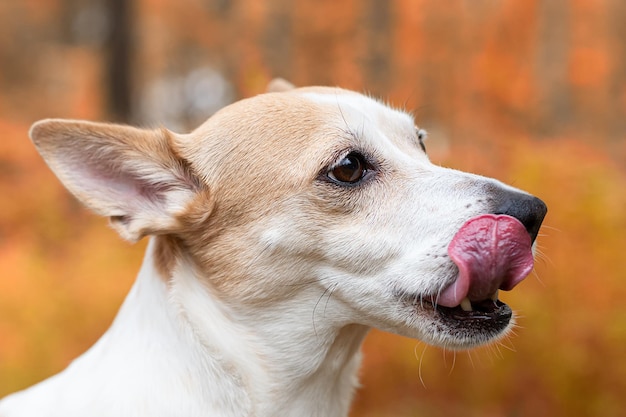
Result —
[[436, 295], [403, 294], [401, 299], [430, 317], [434, 333], [460, 348], [503, 334], [513, 311], [498, 299], [499, 291], [513, 289], [534, 264], [524, 225], [506, 215], [476, 216], [452, 238], [448, 255], [458, 269], [451, 284]]

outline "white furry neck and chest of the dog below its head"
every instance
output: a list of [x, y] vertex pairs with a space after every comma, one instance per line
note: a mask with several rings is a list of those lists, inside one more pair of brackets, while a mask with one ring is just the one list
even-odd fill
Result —
[[255, 320], [211, 297], [190, 265], [164, 280], [153, 249], [107, 333], [62, 373], [0, 401], [2, 417], [348, 414], [368, 328], [314, 328], [285, 306]]

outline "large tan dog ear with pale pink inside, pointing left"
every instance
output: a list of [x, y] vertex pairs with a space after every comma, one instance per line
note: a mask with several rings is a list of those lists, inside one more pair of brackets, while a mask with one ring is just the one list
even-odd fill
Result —
[[127, 240], [179, 227], [199, 188], [166, 129], [42, 120], [30, 137], [67, 189]]

